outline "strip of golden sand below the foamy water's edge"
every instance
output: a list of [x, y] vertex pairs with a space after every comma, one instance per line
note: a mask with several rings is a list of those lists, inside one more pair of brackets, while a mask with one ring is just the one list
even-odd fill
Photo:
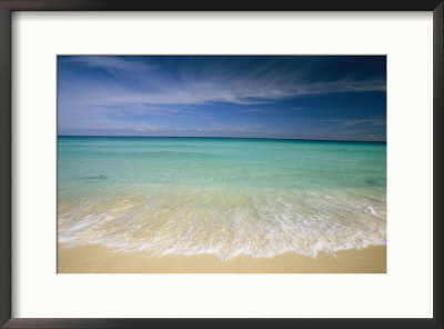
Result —
[[150, 257], [99, 245], [58, 246], [59, 273], [385, 273], [386, 247], [342, 250], [336, 258], [285, 252], [273, 258], [240, 255], [219, 260], [212, 255]]

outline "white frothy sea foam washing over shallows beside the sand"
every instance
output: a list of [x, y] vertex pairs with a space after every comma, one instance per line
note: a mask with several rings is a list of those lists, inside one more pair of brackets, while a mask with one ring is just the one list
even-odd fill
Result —
[[59, 241], [68, 247], [100, 243], [150, 256], [211, 253], [231, 259], [285, 251], [334, 256], [342, 249], [386, 243], [385, 203], [359, 189], [158, 187], [72, 205], [59, 212]]

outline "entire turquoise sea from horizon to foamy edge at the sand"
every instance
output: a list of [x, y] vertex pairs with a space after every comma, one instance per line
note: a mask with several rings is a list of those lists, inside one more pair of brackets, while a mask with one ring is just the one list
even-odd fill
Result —
[[273, 257], [386, 243], [386, 144], [58, 138], [67, 247]]

